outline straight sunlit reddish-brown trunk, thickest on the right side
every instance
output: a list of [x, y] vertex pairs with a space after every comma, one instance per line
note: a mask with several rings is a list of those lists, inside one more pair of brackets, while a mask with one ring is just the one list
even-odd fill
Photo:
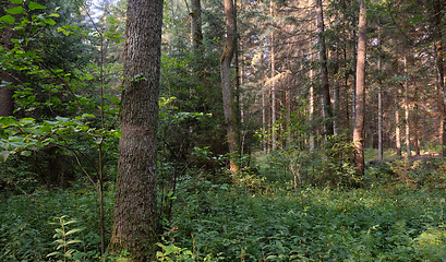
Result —
[[365, 44], [366, 44], [366, 10], [360, 0], [360, 16], [358, 24], [358, 61], [357, 61], [357, 104], [353, 129], [354, 167], [364, 175], [364, 104], [365, 104]]

